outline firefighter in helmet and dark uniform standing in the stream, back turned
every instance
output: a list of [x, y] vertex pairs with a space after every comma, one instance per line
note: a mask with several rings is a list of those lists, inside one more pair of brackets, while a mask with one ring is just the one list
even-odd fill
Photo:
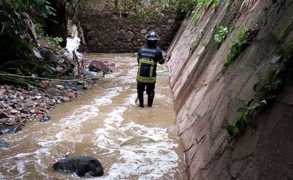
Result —
[[163, 64], [163, 51], [156, 45], [159, 36], [155, 31], [146, 34], [146, 44], [139, 48], [137, 53], [137, 97], [139, 107], [144, 107], [144, 90], [146, 88], [147, 106], [151, 107], [154, 101], [154, 87], [156, 84], [156, 65]]

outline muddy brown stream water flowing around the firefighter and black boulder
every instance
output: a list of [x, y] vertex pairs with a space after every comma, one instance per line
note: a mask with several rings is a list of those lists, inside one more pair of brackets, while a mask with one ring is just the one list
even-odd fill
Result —
[[[11, 147], [0, 149], [0, 179], [80, 179], [52, 169], [58, 159], [78, 155], [102, 163], [105, 175], [93, 179], [186, 179], [166, 65], [158, 66], [153, 107], [140, 108], [134, 103], [136, 55], [92, 53], [87, 58], [114, 61], [113, 73], [50, 110], [48, 122], [4, 134], [1, 139]], [[139, 136], [154, 142], [121, 146]]]

